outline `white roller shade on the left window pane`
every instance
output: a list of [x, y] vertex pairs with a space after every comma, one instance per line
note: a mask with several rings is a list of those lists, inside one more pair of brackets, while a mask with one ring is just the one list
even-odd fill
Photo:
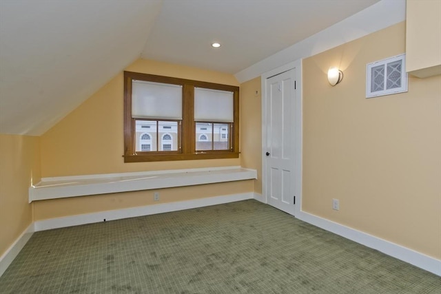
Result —
[[182, 86], [132, 81], [132, 117], [182, 119]]

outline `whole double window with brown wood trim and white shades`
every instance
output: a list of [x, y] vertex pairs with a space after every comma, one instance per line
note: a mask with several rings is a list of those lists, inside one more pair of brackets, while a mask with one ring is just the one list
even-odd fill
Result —
[[238, 158], [238, 144], [239, 87], [124, 72], [125, 162]]

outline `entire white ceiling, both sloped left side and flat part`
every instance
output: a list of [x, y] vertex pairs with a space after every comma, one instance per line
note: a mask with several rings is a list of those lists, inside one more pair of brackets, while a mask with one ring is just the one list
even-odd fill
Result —
[[43, 134], [139, 57], [236, 74], [376, 2], [0, 0], [0, 133]]

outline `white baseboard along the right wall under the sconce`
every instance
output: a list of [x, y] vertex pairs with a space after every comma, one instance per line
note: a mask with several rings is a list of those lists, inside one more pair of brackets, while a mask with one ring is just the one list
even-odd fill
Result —
[[326, 231], [341, 235], [342, 237], [354, 242], [368, 246], [369, 248], [376, 249], [382, 253], [392, 256], [393, 258], [397, 258], [398, 260], [418, 266], [420, 269], [424, 269], [434, 273], [435, 275], [441, 276], [441, 260], [431, 258], [430, 256], [413, 251], [412, 249], [389, 242], [387, 240], [383, 240], [376, 236], [369, 235], [368, 233], [363, 233], [362, 231], [346, 227], [342, 224], [338, 224], [337, 222], [332, 222], [331, 220], [314, 216], [313, 214], [306, 213], [305, 211], [300, 211], [296, 218], [303, 220], [304, 222], [308, 222], [309, 224], [314, 224], [314, 226], [325, 229]]

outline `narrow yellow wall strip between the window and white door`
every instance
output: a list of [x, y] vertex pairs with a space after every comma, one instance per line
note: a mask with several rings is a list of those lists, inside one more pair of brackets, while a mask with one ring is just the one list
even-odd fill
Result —
[[[257, 91], [257, 93], [256, 93]], [[240, 85], [240, 165], [257, 170], [254, 192], [262, 193], [262, 98], [260, 76]]]

